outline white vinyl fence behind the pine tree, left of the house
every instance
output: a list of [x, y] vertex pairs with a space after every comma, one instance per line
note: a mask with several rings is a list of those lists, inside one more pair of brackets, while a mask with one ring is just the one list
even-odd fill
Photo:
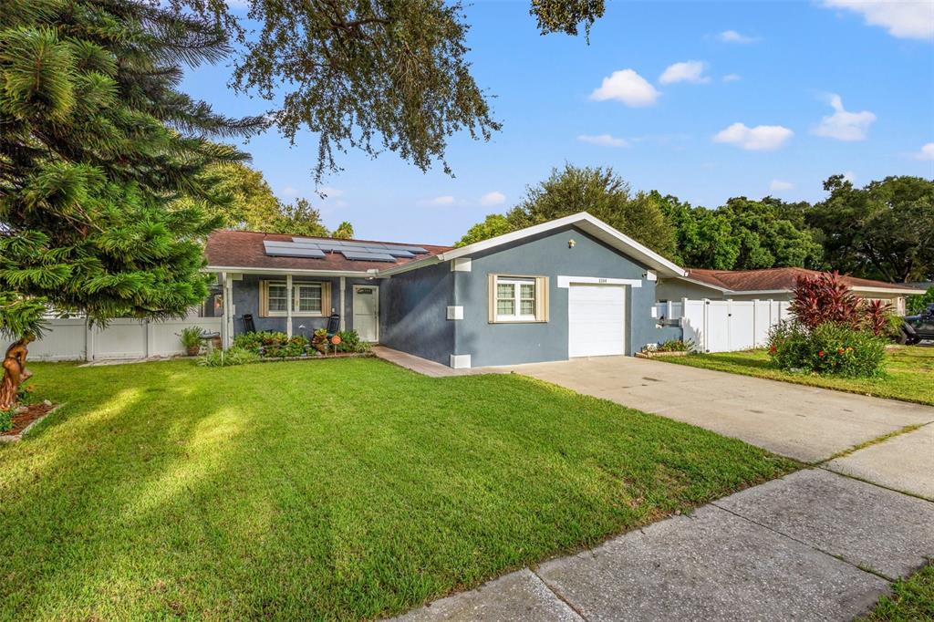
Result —
[[[184, 354], [182, 329], [197, 326], [220, 332], [220, 318], [112, 319], [106, 328], [89, 328], [83, 318], [50, 319], [41, 339], [29, 346], [30, 360], [145, 359]], [[6, 350], [9, 342], [0, 340]]]

